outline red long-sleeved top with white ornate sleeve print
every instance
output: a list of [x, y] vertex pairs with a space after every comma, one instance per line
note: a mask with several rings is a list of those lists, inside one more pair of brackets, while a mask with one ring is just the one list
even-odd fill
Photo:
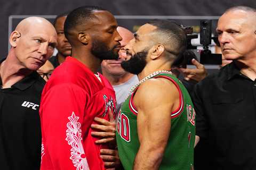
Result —
[[[100, 79], [100, 80], [99, 80]], [[95, 145], [91, 124], [94, 117], [109, 120], [116, 115], [115, 91], [73, 57], [55, 69], [47, 81], [40, 106], [42, 127], [41, 170], [105, 169]]]

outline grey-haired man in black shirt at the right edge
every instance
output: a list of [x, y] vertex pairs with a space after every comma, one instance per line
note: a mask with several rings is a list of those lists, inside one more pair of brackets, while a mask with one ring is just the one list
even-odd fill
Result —
[[200, 138], [195, 168], [256, 169], [256, 10], [229, 8], [217, 33], [233, 62], [196, 84], [191, 96]]

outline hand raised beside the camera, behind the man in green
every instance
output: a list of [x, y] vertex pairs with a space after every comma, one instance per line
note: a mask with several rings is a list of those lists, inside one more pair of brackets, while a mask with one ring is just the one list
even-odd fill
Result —
[[183, 73], [184, 79], [194, 80], [194, 81], [201, 81], [207, 76], [207, 71], [203, 64], [200, 64], [198, 61], [196, 61], [194, 58], [192, 59], [191, 63], [196, 66], [196, 69], [184, 69], [179, 68], [178, 70]]

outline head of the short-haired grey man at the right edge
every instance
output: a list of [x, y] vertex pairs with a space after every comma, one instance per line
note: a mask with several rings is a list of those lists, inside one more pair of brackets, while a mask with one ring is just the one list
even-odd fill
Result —
[[218, 20], [216, 32], [226, 60], [248, 62], [256, 54], [256, 10], [247, 6], [229, 8]]

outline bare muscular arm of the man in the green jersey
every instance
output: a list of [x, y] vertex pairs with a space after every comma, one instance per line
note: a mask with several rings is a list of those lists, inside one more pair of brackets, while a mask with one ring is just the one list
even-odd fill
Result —
[[171, 112], [179, 106], [179, 92], [169, 80], [150, 79], [134, 95], [138, 109], [140, 148], [133, 169], [158, 169], [171, 130]]

